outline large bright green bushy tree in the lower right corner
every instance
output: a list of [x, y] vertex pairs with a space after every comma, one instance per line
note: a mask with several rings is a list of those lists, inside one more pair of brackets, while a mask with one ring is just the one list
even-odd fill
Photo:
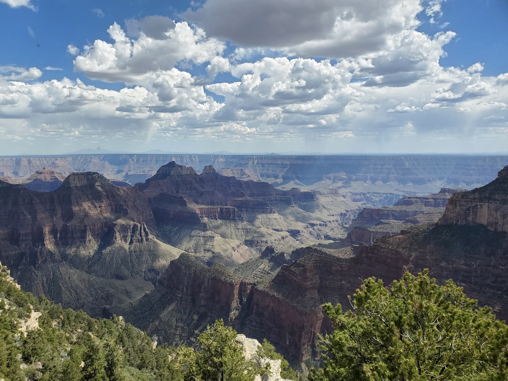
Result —
[[367, 279], [352, 310], [323, 306], [334, 324], [321, 337], [324, 367], [311, 381], [501, 380], [508, 374], [508, 329], [487, 307], [428, 270], [406, 272], [391, 289]]

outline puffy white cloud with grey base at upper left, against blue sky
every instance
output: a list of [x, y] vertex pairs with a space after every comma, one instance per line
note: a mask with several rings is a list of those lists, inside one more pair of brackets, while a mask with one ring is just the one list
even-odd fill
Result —
[[[74, 60], [75, 70], [92, 79], [131, 84], [152, 77], [151, 72], [171, 70], [178, 63], [201, 65], [226, 47], [186, 22], [174, 24], [166, 17], [156, 17], [155, 26], [147, 28], [146, 20], [145, 17], [137, 24], [137, 38], [129, 37], [115, 22], [108, 29], [113, 43], [96, 40], [85, 46]], [[134, 33], [132, 26], [129, 28]]]

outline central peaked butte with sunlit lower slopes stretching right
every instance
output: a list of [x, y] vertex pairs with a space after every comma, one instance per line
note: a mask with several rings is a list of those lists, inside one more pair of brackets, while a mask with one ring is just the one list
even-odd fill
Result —
[[332, 232], [339, 236], [342, 221], [336, 215], [357, 207], [339, 194], [328, 195], [336, 202], [326, 206], [312, 192], [237, 180], [211, 166], [197, 174], [174, 162], [136, 188], [152, 205], [160, 237], [206, 262], [227, 265], [245, 262], [268, 245], [291, 251]]

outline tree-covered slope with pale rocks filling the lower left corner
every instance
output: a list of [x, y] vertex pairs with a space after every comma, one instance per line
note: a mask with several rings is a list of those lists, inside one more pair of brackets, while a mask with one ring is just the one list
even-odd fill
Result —
[[0, 379], [6, 381], [251, 381], [268, 372], [245, 360], [236, 335], [217, 321], [196, 348], [156, 346], [121, 317], [96, 320], [37, 299], [0, 266]]

